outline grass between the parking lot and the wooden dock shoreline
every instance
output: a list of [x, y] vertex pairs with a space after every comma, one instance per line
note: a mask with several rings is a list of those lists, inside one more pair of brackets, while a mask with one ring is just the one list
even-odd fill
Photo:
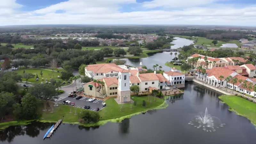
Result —
[[[69, 113], [70, 108], [72, 113]], [[75, 115], [75, 110], [77, 115]], [[64, 116], [63, 122], [70, 122], [70, 123], [78, 122], [78, 120], [80, 119], [79, 116], [81, 111], [86, 111], [86, 109], [75, 108], [75, 107], [70, 107], [68, 105], [59, 104], [59, 107], [54, 107], [53, 113], [51, 113], [51, 111], [44, 111], [40, 120], [58, 121], [59, 119], [63, 119], [63, 116]], [[93, 111], [90, 111], [90, 112], [93, 112]]]

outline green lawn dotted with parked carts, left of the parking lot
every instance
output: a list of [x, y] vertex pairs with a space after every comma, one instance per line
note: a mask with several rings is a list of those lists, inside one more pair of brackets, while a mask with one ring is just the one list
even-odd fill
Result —
[[[41, 81], [41, 78], [44, 78], [44, 79], [48, 79], [48, 81], [50, 80], [50, 78], [55, 78], [57, 79], [57, 76], [61, 76], [61, 73], [58, 73], [58, 72], [53, 72], [51, 70], [43, 70], [43, 69], [36, 69], [36, 68], [19, 68], [17, 70], [15, 70], [15, 72], [18, 73], [18, 75], [23, 75], [23, 70], [25, 70], [25, 72], [27, 73], [32, 73], [32, 74], [37, 74], [38, 77], [39, 77], [39, 81], [36, 81], [36, 77], [35, 78], [31, 78], [28, 80], [28, 82], [31, 82], [31, 83], [41, 83], [41, 82], [44, 82], [44, 81]], [[40, 75], [40, 72], [43, 72], [43, 76]], [[61, 79], [60, 79], [61, 80]], [[22, 79], [22, 81], [26, 81], [26, 79]], [[61, 80], [61, 81], [64, 81], [64, 80]]]

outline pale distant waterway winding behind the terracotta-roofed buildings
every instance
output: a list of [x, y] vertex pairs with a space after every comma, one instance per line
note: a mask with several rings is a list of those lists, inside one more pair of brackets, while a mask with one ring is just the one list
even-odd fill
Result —
[[[174, 40], [171, 44], [175, 44], [171, 46], [171, 49], [177, 49], [180, 47], [183, 47], [184, 45], [190, 45], [193, 43], [192, 40], [188, 40], [185, 38], [180, 37], [174, 37]], [[177, 57], [179, 52], [177, 53]], [[158, 52], [158, 53], [149, 53], [149, 57], [147, 58], [140, 58], [140, 59], [124, 59], [126, 60], [126, 64], [133, 66], [133, 67], [140, 67], [140, 62], [142, 62], [142, 65], [147, 66], [147, 68], [153, 69], [153, 65], [158, 64], [159, 66], [162, 66], [164, 71], [170, 71], [171, 68], [168, 66], [165, 66], [165, 63], [167, 61], [171, 61], [171, 55], [170, 52]], [[175, 52], [172, 52], [172, 59], [175, 57]]]

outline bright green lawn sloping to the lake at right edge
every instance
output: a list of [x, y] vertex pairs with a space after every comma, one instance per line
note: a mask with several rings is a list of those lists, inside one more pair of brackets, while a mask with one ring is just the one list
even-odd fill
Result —
[[256, 104], [234, 95], [222, 95], [219, 98], [239, 115], [247, 117], [256, 125]]

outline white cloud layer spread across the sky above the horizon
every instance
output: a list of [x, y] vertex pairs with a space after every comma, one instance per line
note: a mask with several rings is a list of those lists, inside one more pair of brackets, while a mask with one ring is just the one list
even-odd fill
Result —
[[[0, 2], [3, 0], [0, 0]], [[164, 1], [164, 0], [154, 0]], [[152, 1], [152, 3], [156, 3]], [[167, 0], [168, 1], [168, 0]], [[173, 1], [173, 0], [169, 0]], [[192, 0], [191, 0], [192, 1]], [[255, 26], [256, 5], [235, 8], [232, 5], [214, 4], [216, 0], [198, 0], [210, 5], [198, 7], [198, 2], [187, 7], [189, 0], [175, 2], [179, 10], [150, 10], [134, 12], [120, 12], [124, 4], [136, 4], [135, 0], [69, 0], [59, 4], [39, 9], [33, 12], [16, 12], [21, 7], [14, 0], [5, 3], [5, 12], [1, 15], [0, 25], [30, 25], [30, 24], [198, 24], [198, 25], [248, 25]], [[4, 2], [4, 1], [3, 1]], [[12, 2], [12, 3], [11, 3]], [[181, 3], [184, 4], [181, 8]], [[150, 3], [150, 2], [149, 2]], [[148, 4], [149, 4], [148, 3]], [[147, 3], [143, 3], [147, 4]], [[159, 3], [158, 3], [159, 4]], [[169, 4], [169, 3], [168, 3]], [[139, 4], [138, 4], [139, 5]], [[167, 5], [167, 4], [166, 4]], [[145, 6], [145, 5], [144, 5]], [[150, 7], [150, 6], [148, 6]], [[64, 10], [65, 13], [55, 13]]]

